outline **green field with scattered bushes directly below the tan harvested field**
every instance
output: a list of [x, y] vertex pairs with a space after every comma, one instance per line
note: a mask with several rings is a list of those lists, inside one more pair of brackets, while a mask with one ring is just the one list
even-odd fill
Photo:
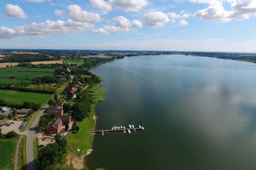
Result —
[[[54, 76], [55, 68], [31, 68], [31, 67], [4, 67], [0, 68], [1, 83], [20, 83], [23, 81], [32, 81], [34, 77]], [[14, 79], [11, 79], [14, 76]], [[28, 76], [28, 79], [27, 77]]]

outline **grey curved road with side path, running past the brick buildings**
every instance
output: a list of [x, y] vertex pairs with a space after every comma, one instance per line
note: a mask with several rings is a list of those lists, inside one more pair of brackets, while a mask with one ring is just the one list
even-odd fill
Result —
[[[63, 61], [64, 63], [64, 61]], [[67, 68], [67, 70], [70, 72], [70, 77], [71, 77], [71, 81], [72, 82], [74, 80], [74, 75], [71, 73], [70, 69]], [[35, 126], [37, 124], [37, 122], [40, 119], [40, 116], [42, 116], [43, 112], [49, 107], [48, 104], [45, 104], [43, 107], [41, 107], [39, 109], [39, 111], [37, 111], [35, 114], [36, 116], [33, 118], [34, 120], [32, 120], [29, 125], [27, 126], [26, 130], [21, 134], [21, 137], [19, 139], [19, 142], [17, 144], [16, 147], [16, 155], [15, 155], [15, 165], [14, 165], [14, 169], [18, 170], [18, 152], [19, 152], [19, 144], [20, 141], [23, 137], [23, 135], [27, 135], [27, 144], [26, 144], [26, 151], [27, 151], [27, 165], [28, 165], [28, 170], [35, 170], [35, 158], [34, 158], [34, 152], [33, 152], [33, 139], [34, 139], [34, 135], [35, 135]], [[31, 127], [30, 127], [30, 124]], [[30, 127], [30, 129], [28, 129], [28, 127]]]

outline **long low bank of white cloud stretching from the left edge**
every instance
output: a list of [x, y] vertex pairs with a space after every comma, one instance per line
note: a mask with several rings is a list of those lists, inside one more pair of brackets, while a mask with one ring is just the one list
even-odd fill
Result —
[[73, 33], [78, 30], [85, 30], [92, 28], [94, 24], [76, 22], [68, 19], [66, 22], [46, 20], [43, 23], [31, 23], [24, 26], [16, 26], [12, 28], [0, 27], [0, 38], [11, 39], [14, 37], [28, 37], [42, 38], [46, 35], [53, 35], [59, 33]]

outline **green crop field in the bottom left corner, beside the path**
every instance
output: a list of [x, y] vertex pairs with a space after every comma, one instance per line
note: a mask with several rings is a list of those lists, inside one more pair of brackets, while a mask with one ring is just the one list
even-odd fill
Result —
[[16, 144], [20, 135], [10, 139], [0, 139], [0, 169], [10, 170], [14, 169], [14, 157]]

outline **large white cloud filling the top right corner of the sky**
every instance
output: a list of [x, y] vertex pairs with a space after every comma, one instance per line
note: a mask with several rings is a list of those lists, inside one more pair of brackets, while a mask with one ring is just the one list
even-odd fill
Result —
[[217, 20], [220, 22], [229, 22], [232, 19], [246, 19], [251, 15], [256, 15], [256, 0], [226, 0], [231, 3], [231, 10], [226, 10], [223, 7], [221, 0], [190, 0], [194, 3], [207, 3], [209, 6], [206, 9], [197, 11], [194, 16], [201, 17], [207, 20]]

